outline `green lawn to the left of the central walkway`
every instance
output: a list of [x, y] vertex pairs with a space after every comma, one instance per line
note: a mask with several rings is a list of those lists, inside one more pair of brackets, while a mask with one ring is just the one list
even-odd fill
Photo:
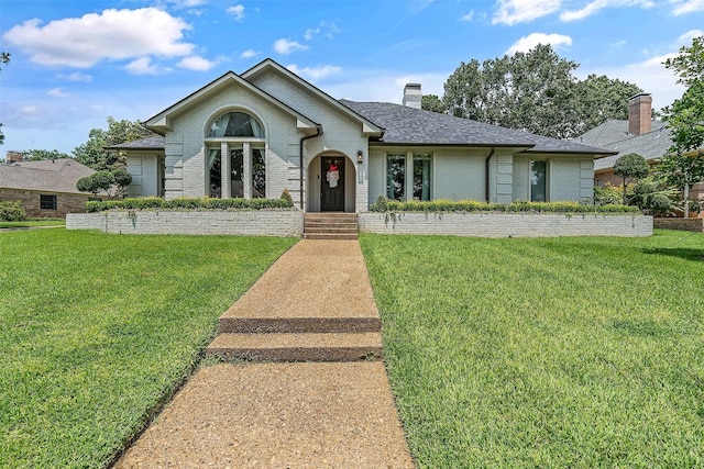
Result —
[[0, 467], [102, 467], [295, 239], [0, 234]]

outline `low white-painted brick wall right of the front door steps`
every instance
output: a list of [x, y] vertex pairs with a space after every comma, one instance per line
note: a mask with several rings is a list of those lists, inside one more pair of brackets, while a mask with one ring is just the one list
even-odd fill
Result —
[[358, 216], [360, 232], [476, 237], [650, 236], [652, 216], [547, 213], [377, 213]]

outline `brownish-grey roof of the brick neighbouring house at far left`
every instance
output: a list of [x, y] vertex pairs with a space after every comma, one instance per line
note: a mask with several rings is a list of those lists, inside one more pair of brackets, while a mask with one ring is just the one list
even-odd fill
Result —
[[0, 188], [84, 194], [76, 182], [94, 172], [70, 158], [1, 164]]

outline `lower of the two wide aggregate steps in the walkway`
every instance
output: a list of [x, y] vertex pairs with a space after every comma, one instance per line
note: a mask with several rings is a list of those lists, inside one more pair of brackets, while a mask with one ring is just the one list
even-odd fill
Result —
[[229, 360], [359, 361], [382, 357], [382, 335], [220, 334], [206, 353]]

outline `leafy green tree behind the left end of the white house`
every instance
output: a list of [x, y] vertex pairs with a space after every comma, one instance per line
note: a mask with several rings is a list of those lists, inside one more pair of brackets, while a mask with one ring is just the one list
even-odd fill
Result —
[[106, 146], [120, 145], [156, 135], [139, 121], [116, 121], [108, 118], [108, 130], [92, 129], [88, 142], [74, 148], [74, 157], [86, 166], [100, 171], [125, 166], [118, 152], [107, 150]]

